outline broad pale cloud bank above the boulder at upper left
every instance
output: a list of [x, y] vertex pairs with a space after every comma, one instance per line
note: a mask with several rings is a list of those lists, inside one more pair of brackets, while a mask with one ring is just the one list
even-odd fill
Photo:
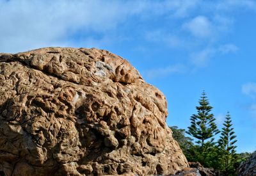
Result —
[[106, 35], [128, 17], [152, 10], [151, 6], [147, 1], [0, 0], [0, 52], [76, 45], [70, 39], [77, 33]]

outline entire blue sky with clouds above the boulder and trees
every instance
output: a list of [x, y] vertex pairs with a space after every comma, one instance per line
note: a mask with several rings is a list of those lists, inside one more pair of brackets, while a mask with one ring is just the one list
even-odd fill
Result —
[[256, 1], [0, 0], [0, 52], [97, 47], [127, 59], [187, 129], [203, 90], [237, 151], [256, 150]]

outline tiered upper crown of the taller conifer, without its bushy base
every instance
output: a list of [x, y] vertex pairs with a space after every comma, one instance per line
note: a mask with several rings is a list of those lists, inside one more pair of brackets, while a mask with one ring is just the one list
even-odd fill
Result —
[[188, 127], [187, 133], [198, 139], [196, 143], [203, 150], [207, 143], [206, 140], [209, 140], [209, 143], [213, 143], [213, 137], [220, 131], [214, 122], [216, 120], [214, 115], [210, 113], [212, 106], [209, 105], [205, 92], [202, 93], [199, 104], [200, 106], [196, 106], [197, 114], [193, 114], [190, 118], [191, 125]]

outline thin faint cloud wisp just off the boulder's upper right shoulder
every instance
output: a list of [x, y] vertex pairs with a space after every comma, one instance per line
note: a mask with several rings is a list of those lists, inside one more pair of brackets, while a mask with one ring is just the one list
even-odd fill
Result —
[[182, 73], [182, 72], [186, 72], [185, 65], [176, 64], [176, 65], [170, 65], [164, 68], [154, 68], [151, 70], [147, 70], [145, 72], [142, 72], [142, 75], [147, 77], [148, 79], [154, 79], [154, 78], [159, 79], [159, 77], [165, 77], [165, 76], [169, 76], [170, 74]]

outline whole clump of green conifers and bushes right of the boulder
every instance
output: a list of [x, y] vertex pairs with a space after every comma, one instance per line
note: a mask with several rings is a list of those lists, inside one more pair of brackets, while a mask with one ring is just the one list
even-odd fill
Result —
[[[215, 124], [214, 115], [211, 113], [212, 106], [209, 105], [205, 92], [202, 93], [199, 104], [200, 106], [196, 106], [197, 114], [190, 118], [188, 131], [177, 126], [170, 127], [173, 138], [179, 143], [188, 161], [198, 161], [206, 168], [221, 171], [221, 175], [236, 175], [236, 168], [252, 153], [236, 154], [237, 140], [229, 113], [221, 129], [220, 139], [215, 143], [214, 136], [220, 131]], [[197, 139], [196, 145], [192, 138], [185, 136], [185, 132]]]

